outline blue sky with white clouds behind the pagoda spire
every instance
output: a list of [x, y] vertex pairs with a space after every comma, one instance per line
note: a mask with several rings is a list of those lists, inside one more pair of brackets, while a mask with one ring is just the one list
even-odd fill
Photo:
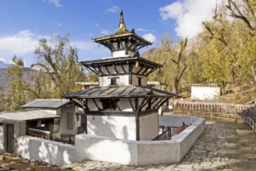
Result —
[[[40, 37], [70, 33], [79, 48], [79, 60], [110, 56], [91, 37], [113, 33], [119, 25], [119, 9], [129, 30], [160, 44], [170, 34], [175, 40], [195, 37], [201, 20], [211, 17], [215, 0], [0, 0], [0, 60], [21, 56], [27, 66], [36, 61], [33, 50]], [[196, 5], [199, 5], [198, 9]], [[201, 7], [202, 6], [202, 7]], [[205, 11], [201, 8], [206, 8]], [[202, 12], [199, 12], [202, 11]], [[194, 28], [195, 27], [195, 28]], [[192, 33], [191, 33], [192, 32]], [[142, 52], [147, 50], [143, 48]]]

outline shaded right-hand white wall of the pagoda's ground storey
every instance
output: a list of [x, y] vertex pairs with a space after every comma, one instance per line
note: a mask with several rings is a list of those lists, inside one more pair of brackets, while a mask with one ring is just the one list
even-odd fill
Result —
[[140, 140], [153, 140], [158, 134], [158, 113], [139, 117]]

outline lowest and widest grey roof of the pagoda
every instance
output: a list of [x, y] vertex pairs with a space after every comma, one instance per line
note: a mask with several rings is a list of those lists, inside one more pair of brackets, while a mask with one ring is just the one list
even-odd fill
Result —
[[66, 99], [95, 99], [95, 98], [172, 98], [175, 94], [162, 91], [148, 86], [107, 86], [86, 88], [77, 92], [64, 94], [62, 98]]

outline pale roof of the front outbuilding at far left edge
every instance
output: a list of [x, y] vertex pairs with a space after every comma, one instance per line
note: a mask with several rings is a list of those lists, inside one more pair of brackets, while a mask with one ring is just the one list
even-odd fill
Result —
[[27, 111], [10, 111], [0, 113], [0, 120], [37, 120], [37, 119], [50, 119], [61, 116], [55, 115], [55, 111], [46, 110], [27, 110]]

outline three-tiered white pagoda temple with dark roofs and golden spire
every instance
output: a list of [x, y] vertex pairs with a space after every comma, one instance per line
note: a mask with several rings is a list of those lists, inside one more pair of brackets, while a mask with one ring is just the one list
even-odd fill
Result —
[[98, 86], [62, 95], [83, 109], [85, 134], [122, 140], [153, 140], [159, 135], [158, 109], [175, 94], [147, 86], [148, 75], [162, 67], [140, 56], [152, 43], [128, 31], [120, 11], [114, 34], [92, 39], [112, 57], [80, 62], [98, 76]]

